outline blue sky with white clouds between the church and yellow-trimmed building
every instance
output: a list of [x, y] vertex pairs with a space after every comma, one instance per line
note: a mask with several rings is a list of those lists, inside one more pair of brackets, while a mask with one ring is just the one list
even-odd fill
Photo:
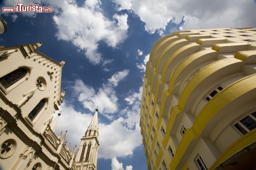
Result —
[[[1, 1], [14, 7], [18, 1]], [[24, 0], [53, 13], [1, 13], [0, 45], [44, 42], [38, 50], [66, 63], [62, 115], [71, 148], [99, 108], [99, 170], [144, 170], [139, 127], [145, 62], [156, 40], [174, 30], [256, 27], [255, 0]], [[58, 112], [57, 112], [58, 113]]]

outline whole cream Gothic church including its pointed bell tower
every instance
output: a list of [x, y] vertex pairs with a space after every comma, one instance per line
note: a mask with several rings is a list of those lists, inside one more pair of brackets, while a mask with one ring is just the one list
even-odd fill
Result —
[[0, 46], [0, 169], [96, 170], [98, 110], [76, 155], [65, 144], [67, 131], [54, 134], [58, 117], [52, 121], [65, 95], [65, 61], [52, 60], [40, 46]]

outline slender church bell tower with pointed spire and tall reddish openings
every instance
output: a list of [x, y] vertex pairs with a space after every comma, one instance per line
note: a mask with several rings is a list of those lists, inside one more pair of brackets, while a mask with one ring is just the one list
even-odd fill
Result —
[[85, 136], [81, 138], [76, 155], [76, 168], [78, 170], [97, 170], [98, 146], [100, 146], [98, 135], [98, 109], [96, 109]]

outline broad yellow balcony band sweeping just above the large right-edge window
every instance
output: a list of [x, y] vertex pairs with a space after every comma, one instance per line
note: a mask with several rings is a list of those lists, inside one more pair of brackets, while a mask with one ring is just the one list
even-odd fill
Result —
[[[218, 113], [223, 107], [225, 107], [228, 103], [235, 100], [239, 96], [253, 89], [256, 89], [255, 84], [252, 82], [256, 82], [256, 74], [249, 75], [229, 85], [228, 87], [220, 91], [217, 95], [215, 95], [203, 107], [201, 112], [198, 114], [196, 120], [194, 121], [193, 126], [185, 131], [185, 134], [183, 135], [181, 142], [176, 150], [175, 156], [170, 164], [171, 169], [176, 169], [179, 160], [182, 159], [192, 140], [196, 139], [201, 135], [204, 127], [216, 113]], [[174, 116], [171, 115], [171, 117]], [[171, 119], [173, 118], [170, 118], [170, 120]], [[170, 126], [172, 125], [173, 124], [170, 124]]]

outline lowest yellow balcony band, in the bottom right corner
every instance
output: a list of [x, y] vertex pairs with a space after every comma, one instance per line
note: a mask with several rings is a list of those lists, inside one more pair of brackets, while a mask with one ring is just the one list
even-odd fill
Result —
[[232, 145], [225, 149], [225, 151], [218, 157], [214, 164], [209, 168], [209, 170], [216, 169], [221, 163], [226, 159], [245, 148], [246, 146], [254, 143], [256, 140], [256, 129], [250, 131], [249, 133], [243, 135], [238, 140], [236, 140]]

